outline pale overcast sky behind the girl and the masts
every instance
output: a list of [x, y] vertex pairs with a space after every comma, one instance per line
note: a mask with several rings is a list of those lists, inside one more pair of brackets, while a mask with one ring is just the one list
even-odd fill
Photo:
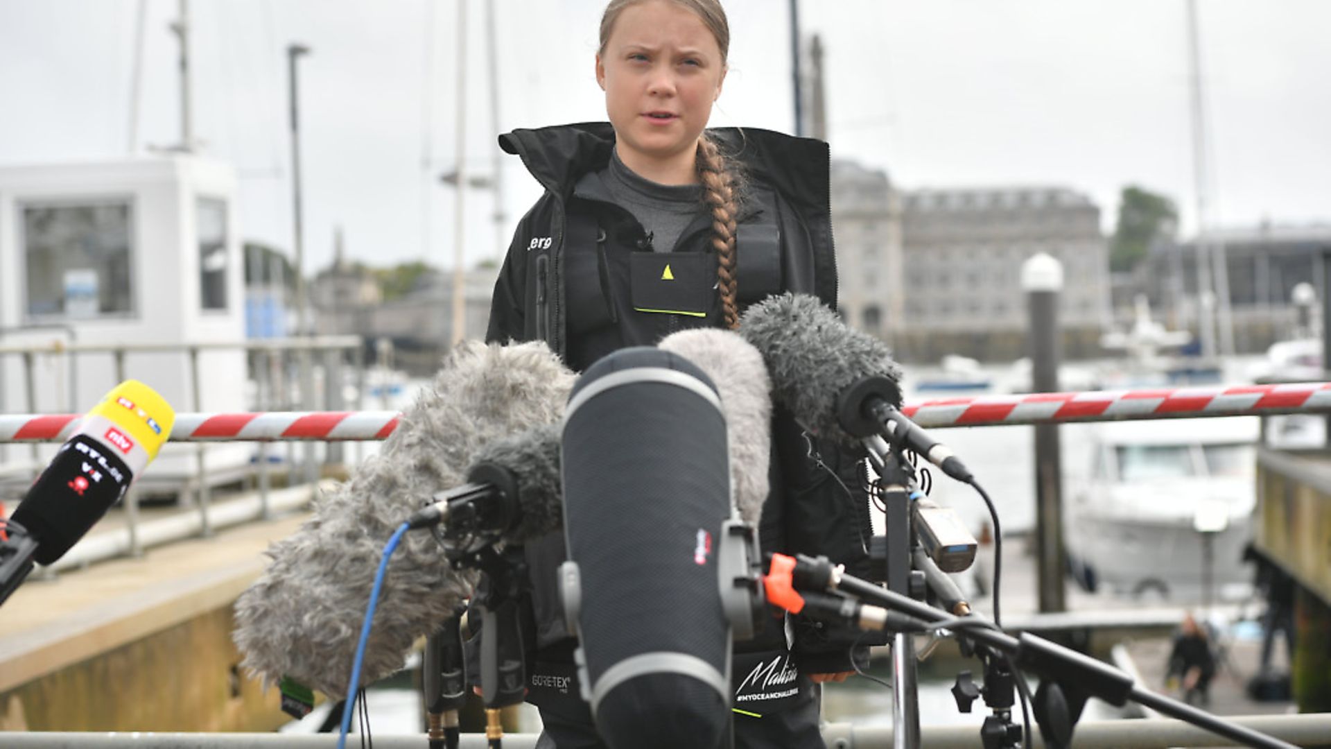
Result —
[[[496, 129], [604, 119], [592, 77], [603, 0], [469, 0], [467, 168]], [[1215, 200], [1225, 225], [1331, 223], [1331, 3], [1201, 0]], [[128, 152], [137, 0], [0, 0], [0, 165]], [[791, 132], [784, 0], [727, 0], [731, 72], [712, 124]], [[176, 0], [148, 0], [140, 144], [180, 139]], [[244, 236], [291, 245], [285, 47], [301, 63], [306, 267], [451, 263], [455, 0], [192, 0], [194, 128], [241, 175]], [[431, 21], [433, 17], [433, 23]], [[833, 156], [906, 189], [1062, 185], [1113, 228], [1141, 184], [1195, 225], [1185, 0], [804, 0], [827, 48]], [[429, 33], [429, 29], [434, 33]], [[431, 44], [433, 40], [433, 44]], [[429, 51], [433, 49], [433, 53]], [[433, 163], [426, 167], [423, 155]], [[504, 235], [538, 196], [504, 157]], [[465, 197], [467, 257], [495, 255], [491, 192]]]

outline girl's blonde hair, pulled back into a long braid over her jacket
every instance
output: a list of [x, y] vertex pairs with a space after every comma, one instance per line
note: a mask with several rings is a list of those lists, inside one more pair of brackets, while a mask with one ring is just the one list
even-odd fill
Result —
[[[606, 44], [615, 28], [619, 15], [627, 8], [647, 0], [611, 0], [600, 16], [600, 47], [598, 55], [606, 53]], [[725, 20], [725, 9], [717, 0], [668, 0], [691, 11], [707, 31], [716, 39], [721, 51], [721, 64], [725, 64], [731, 48], [731, 27]], [[739, 285], [735, 277], [735, 219], [740, 212], [741, 177], [721, 153], [716, 141], [707, 133], [697, 139], [697, 181], [703, 185], [703, 201], [712, 212], [712, 249], [716, 251], [716, 291], [721, 297], [721, 316], [725, 327], [740, 327]]]

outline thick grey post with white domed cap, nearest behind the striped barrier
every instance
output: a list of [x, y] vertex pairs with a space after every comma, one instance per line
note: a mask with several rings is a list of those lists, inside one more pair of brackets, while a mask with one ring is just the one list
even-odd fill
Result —
[[[1021, 267], [1030, 312], [1030, 389], [1058, 392], [1058, 297], [1063, 267], [1040, 253]], [[1058, 426], [1036, 425], [1036, 558], [1041, 612], [1066, 610], [1063, 590], [1062, 466]]]

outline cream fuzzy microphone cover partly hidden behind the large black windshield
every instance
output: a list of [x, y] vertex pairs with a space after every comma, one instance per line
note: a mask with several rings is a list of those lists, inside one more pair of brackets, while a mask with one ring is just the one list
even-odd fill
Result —
[[735, 508], [756, 526], [772, 460], [772, 378], [763, 355], [739, 333], [713, 328], [671, 333], [656, 348], [689, 360], [716, 385], [729, 436]]

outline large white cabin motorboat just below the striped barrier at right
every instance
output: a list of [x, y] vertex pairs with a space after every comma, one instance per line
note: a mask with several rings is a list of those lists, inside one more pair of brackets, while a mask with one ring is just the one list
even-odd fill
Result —
[[1118, 421], [1093, 429], [1065, 537], [1083, 586], [1170, 601], [1235, 600], [1256, 504], [1256, 417]]

